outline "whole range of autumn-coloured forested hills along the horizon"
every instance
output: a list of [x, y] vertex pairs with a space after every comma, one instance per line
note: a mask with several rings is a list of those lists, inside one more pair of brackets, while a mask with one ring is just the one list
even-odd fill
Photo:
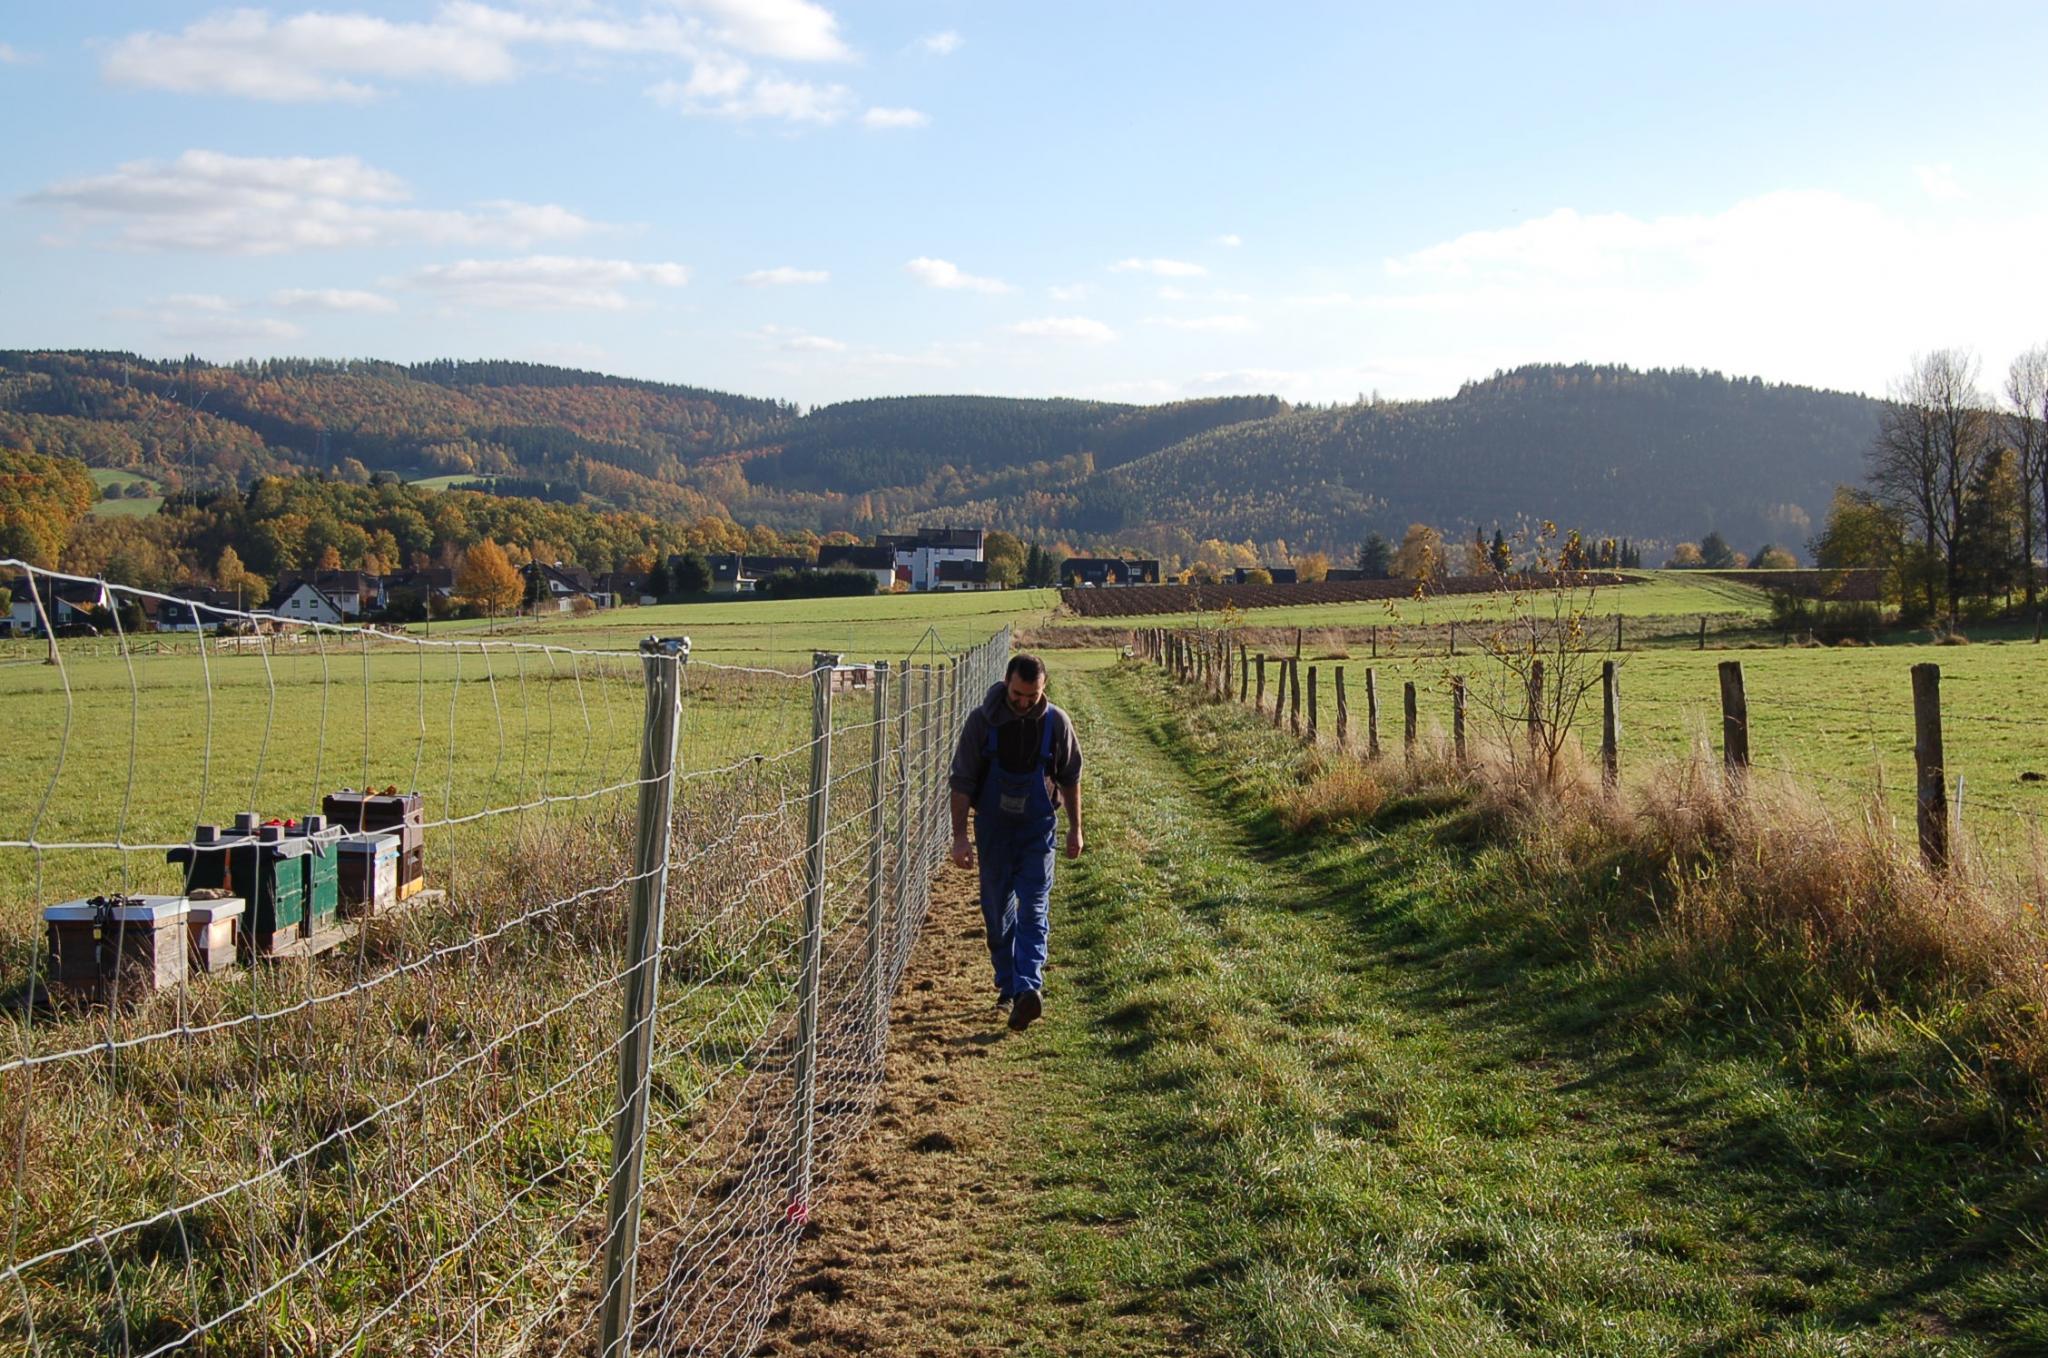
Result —
[[0, 352], [0, 449], [168, 490], [317, 473], [874, 533], [963, 518], [1073, 547], [1350, 551], [1409, 522], [1804, 543], [1876, 401], [1714, 373], [1530, 367], [1440, 401], [1288, 408], [926, 395], [786, 401], [528, 363]]

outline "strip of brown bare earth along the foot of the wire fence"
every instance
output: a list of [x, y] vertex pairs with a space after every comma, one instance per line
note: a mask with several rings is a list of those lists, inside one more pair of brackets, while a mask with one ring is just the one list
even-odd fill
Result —
[[[991, 1059], [975, 875], [946, 868], [889, 1010], [874, 1122], [817, 1204], [756, 1354], [1008, 1354], [1030, 1335], [1004, 1299], [1030, 1178], [1004, 1141], [1036, 1075]], [[1032, 1327], [1036, 1329], [1036, 1327]]]

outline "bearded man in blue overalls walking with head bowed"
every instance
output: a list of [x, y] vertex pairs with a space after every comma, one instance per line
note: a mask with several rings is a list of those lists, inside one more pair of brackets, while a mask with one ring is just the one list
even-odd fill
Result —
[[[1001, 684], [967, 715], [952, 750], [952, 862], [981, 850], [981, 922], [995, 1004], [1022, 1032], [1044, 1012], [1047, 905], [1053, 895], [1055, 797], [1067, 803], [1067, 856], [1081, 856], [1081, 746], [1044, 701], [1044, 662], [1012, 655]], [[975, 813], [975, 844], [967, 813]]]

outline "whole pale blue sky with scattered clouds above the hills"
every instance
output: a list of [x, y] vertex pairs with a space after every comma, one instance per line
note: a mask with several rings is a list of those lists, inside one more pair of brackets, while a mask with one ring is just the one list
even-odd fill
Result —
[[465, 0], [0, 14], [0, 346], [821, 404], [1882, 391], [2048, 340], [2048, 8]]

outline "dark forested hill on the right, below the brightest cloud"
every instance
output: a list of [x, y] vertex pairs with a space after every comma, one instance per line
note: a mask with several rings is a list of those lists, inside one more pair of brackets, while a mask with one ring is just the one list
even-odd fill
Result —
[[1075, 533], [1356, 543], [1550, 518], [1798, 547], [1862, 475], [1878, 401], [1714, 373], [1530, 367], [1442, 401], [1294, 410], [1077, 485]]

